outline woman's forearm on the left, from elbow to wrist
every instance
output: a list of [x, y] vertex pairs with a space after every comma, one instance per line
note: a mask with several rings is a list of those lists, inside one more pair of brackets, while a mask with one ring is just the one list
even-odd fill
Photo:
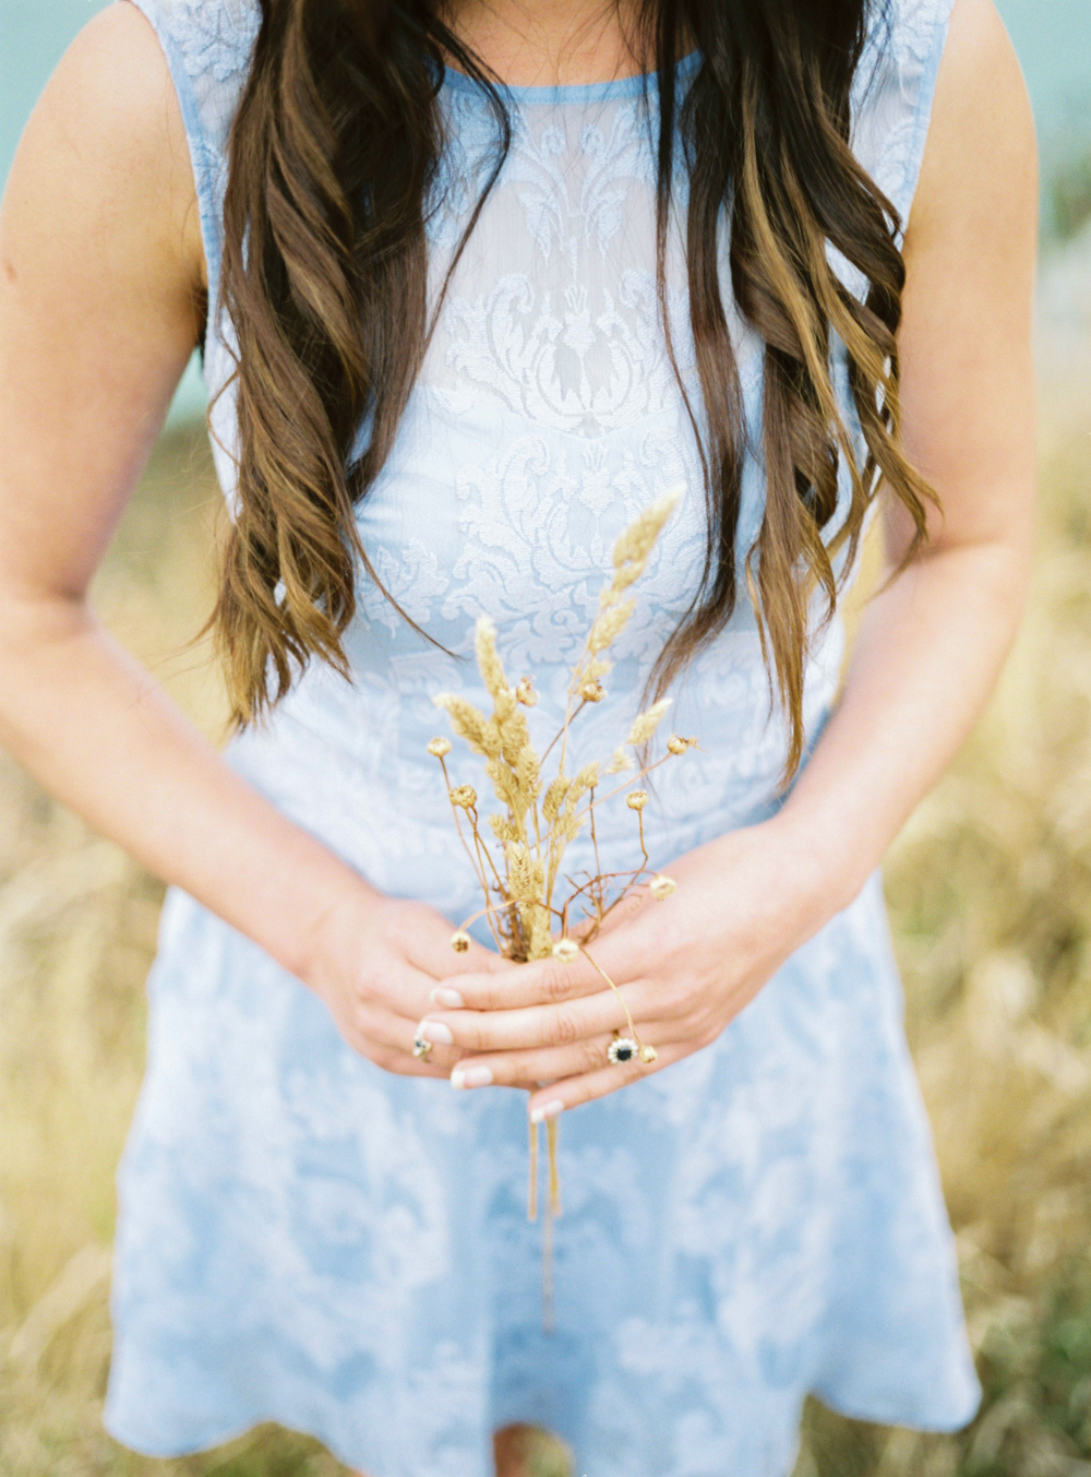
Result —
[[77, 600], [0, 600], [0, 743], [295, 975], [329, 910], [366, 889], [229, 770]]

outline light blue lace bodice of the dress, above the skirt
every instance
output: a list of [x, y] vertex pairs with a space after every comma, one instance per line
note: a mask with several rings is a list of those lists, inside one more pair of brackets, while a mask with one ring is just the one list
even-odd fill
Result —
[[[205, 170], [202, 222], [214, 295], [223, 139], [238, 86], [233, 68], [245, 65], [254, 10], [244, 0], [176, 0], [171, 15], [202, 124], [198, 155], [205, 157], [195, 162], [198, 179]], [[908, 213], [923, 131], [905, 96], [918, 95], [933, 65], [936, 6], [904, 6], [896, 24], [898, 47], [877, 37], [861, 64], [856, 134], [865, 164]], [[698, 62], [691, 56], [681, 64], [682, 86]], [[700, 408], [700, 390], [676, 238], [667, 258], [667, 310], [679, 375], [657, 307], [654, 84], [635, 77], [508, 89], [506, 102], [511, 151], [447, 282], [452, 253], [495, 158], [496, 126], [472, 81], [452, 71], [444, 78], [450, 142], [428, 227], [436, 329], [393, 453], [359, 510], [379, 580], [437, 645], [424, 641], [360, 570], [360, 617], [347, 635], [353, 688], [340, 690], [341, 679], [312, 666], [275, 715], [272, 737], [249, 734], [232, 750], [233, 764], [365, 870], [375, 858], [353, 842], [365, 827], [345, 795], [366, 790], [391, 817], [412, 817], [410, 851], [424, 835], [443, 848], [434, 830], [449, 824], [443, 792], [424, 749], [436, 730], [430, 699], [452, 688], [483, 697], [468, 660], [480, 614], [496, 620], [508, 668], [534, 675], [543, 699], [534, 731], [552, 733], [614, 539], [654, 496], [685, 487], [638, 589], [638, 613], [616, 651], [608, 699], [582, 721], [574, 758], [599, 756], [627, 730], [704, 563], [701, 462], [686, 408], [686, 394]], [[729, 287], [723, 295], [731, 304]], [[233, 360], [229, 325], [216, 316], [213, 322], [207, 377], [214, 393]], [[762, 346], [737, 313], [729, 326], [748, 437], [759, 446]], [[837, 378], [844, 385], [842, 369]], [[852, 424], [850, 414], [847, 419]], [[214, 428], [230, 499], [230, 390], [218, 402]], [[362, 427], [360, 446], [366, 434]], [[760, 459], [751, 453], [737, 530], [740, 566], [757, 538], [762, 508]], [[673, 693], [675, 727], [703, 746], [700, 764], [675, 767], [657, 786], [653, 836], [660, 845], [673, 842], [673, 849], [698, 820], [715, 817], [726, 829], [778, 801], [785, 727], [771, 706], [743, 579], [728, 629]], [[833, 699], [840, 659], [834, 620], [815, 641], [806, 675], [810, 731]], [[313, 758], [289, 762], [292, 736], [312, 752], [323, 747], [328, 795], [320, 793]], [[604, 827], [608, 839], [608, 817]], [[387, 874], [391, 861], [387, 851]], [[449, 861], [464, 873], [456, 849]], [[391, 876], [391, 886], [399, 885]]]

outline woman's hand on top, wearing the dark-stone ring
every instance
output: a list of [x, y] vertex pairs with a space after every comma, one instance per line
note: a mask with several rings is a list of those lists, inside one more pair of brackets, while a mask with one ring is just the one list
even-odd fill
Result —
[[715, 1041], [844, 901], [824, 888], [813, 848], [800, 846], [782, 812], [667, 871], [673, 895], [660, 902], [642, 888], [589, 944], [641, 1041], [655, 1049], [654, 1063], [608, 1060], [613, 1035], [627, 1035], [627, 1022], [585, 956], [571, 964], [545, 959], [500, 975], [452, 976], [433, 991], [443, 1009], [421, 1028], [465, 1053], [452, 1083], [530, 1087], [534, 1121], [604, 1097]]

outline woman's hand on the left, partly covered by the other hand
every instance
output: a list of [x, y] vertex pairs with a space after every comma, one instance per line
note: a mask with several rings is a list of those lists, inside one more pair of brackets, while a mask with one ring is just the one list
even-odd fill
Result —
[[434, 1044], [427, 1059], [413, 1056], [419, 1022], [444, 1000], [452, 975], [511, 969], [508, 960], [471, 942], [450, 947], [452, 923], [422, 902], [405, 902], [351, 888], [314, 929], [304, 982], [325, 1001], [337, 1028], [360, 1056], [403, 1077], [450, 1077], [465, 1053]]

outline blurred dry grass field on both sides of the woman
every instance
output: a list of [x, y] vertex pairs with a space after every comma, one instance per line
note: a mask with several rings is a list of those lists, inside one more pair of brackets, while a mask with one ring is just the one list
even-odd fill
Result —
[[[1091, 235], [1054, 253], [1039, 297], [1030, 610], [887, 866], [985, 1403], [952, 1437], [812, 1405], [796, 1477], [1091, 1477]], [[186, 642], [211, 598], [217, 498], [202, 434], [164, 437], [96, 586], [210, 734], [223, 696]], [[332, 1477], [320, 1447], [272, 1427], [158, 1462], [99, 1424], [112, 1174], [161, 891], [0, 758], [0, 1477]], [[562, 1473], [555, 1447], [527, 1456], [526, 1477]]]

